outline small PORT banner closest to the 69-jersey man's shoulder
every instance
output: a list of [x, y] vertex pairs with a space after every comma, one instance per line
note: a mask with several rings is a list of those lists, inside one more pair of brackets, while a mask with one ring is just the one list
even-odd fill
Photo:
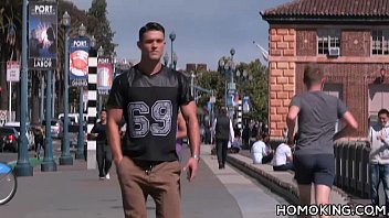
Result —
[[107, 95], [113, 80], [113, 67], [111, 57], [97, 58], [97, 90], [98, 94]]

